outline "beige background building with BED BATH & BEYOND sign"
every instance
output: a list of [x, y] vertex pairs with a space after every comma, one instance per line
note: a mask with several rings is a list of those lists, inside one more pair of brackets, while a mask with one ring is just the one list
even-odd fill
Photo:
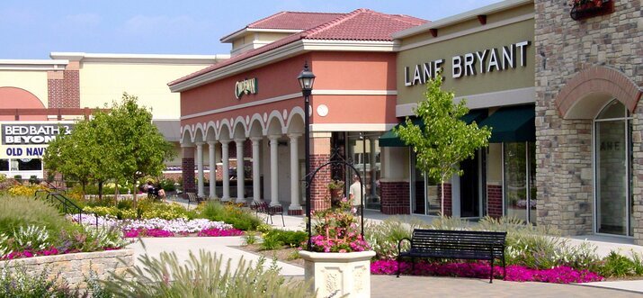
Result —
[[[50, 57], [0, 60], [0, 174], [43, 178], [40, 158], [58, 124], [73, 129], [73, 122], [120, 101], [123, 92], [152, 109], [159, 131], [179, 151], [179, 98], [167, 90], [167, 81], [229, 55], [54, 52]], [[167, 166], [166, 174], [172, 175], [180, 158]]]

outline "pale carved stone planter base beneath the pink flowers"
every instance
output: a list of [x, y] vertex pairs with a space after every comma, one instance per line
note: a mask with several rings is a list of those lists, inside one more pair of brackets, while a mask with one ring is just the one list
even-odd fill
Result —
[[[317, 297], [371, 297], [371, 257], [374, 251], [324, 253], [299, 251], [306, 279]], [[344, 296], [345, 295], [345, 296]]]

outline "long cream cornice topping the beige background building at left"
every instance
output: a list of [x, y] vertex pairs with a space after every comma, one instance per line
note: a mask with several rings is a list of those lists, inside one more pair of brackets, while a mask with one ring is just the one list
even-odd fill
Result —
[[85, 52], [51, 52], [51, 59], [67, 59], [83, 62], [123, 62], [123, 63], [178, 63], [213, 64], [221, 59], [229, 59], [229, 54], [216, 55], [174, 55], [174, 54], [113, 54]]

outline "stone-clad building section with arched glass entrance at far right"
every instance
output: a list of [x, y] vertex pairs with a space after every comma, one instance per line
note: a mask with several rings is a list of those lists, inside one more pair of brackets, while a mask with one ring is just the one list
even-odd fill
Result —
[[534, 2], [538, 222], [643, 245], [641, 2]]

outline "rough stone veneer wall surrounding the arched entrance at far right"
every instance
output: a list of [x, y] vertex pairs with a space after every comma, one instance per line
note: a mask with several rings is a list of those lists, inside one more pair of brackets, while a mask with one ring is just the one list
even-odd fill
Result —
[[[613, 68], [643, 86], [641, 1], [614, 1], [614, 13], [574, 21], [567, 1], [535, 0], [536, 184], [538, 224], [564, 234], [593, 231], [592, 120], [564, 120], [554, 99], [581, 70]], [[643, 243], [643, 115], [634, 114], [635, 239]]]

